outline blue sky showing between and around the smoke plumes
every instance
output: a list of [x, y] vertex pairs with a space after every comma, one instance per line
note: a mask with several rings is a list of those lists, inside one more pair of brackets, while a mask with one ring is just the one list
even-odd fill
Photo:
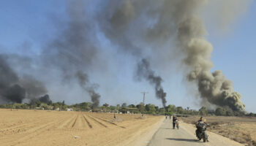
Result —
[[[100, 11], [103, 1], [90, 1], [86, 3], [86, 12], [94, 14]], [[33, 58], [41, 55], [45, 44], [54, 39], [59, 31], [60, 21], [67, 20], [67, 3], [64, 1], [12, 1], [0, 2], [0, 53], [26, 55]], [[234, 23], [227, 28], [218, 28], [211, 22], [210, 13], [203, 15], [206, 17], [207, 39], [212, 43], [214, 50], [211, 60], [214, 62], [213, 70], [222, 70], [227, 79], [233, 81], [236, 91], [241, 93], [242, 101], [246, 104], [246, 110], [256, 112], [256, 1], [252, 1], [243, 15], [238, 17]], [[90, 19], [90, 18], [89, 18]], [[105, 54], [100, 58], [102, 64], [90, 68], [88, 74], [91, 82], [99, 84], [97, 91], [101, 94], [100, 104], [139, 104], [142, 99], [142, 91], [146, 94], [146, 103], [153, 103], [162, 106], [161, 101], [155, 98], [154, 88], [148, 82], [136, 82], [134, 80], [134, 70], [136, 59], [132, 55], [127, 55], [116, 51], [115, 45], [104, 37], [102, 32], [95, 31], [98, 39], [97, 46], [101, 50], [100, 54]], [[170, 55], [172, 56], [172, 55]], [[191, 93], [191, 88], [187, 88], [184, 74], [178, 69], [177, 64], [165, 58], [165, 63], [154, 64], [153, 68], [164, 80], [162, 86], [167, 93], [167, 104], [175, 104], [182, 107], [200, 107], [195, 95]], [[108, 62], [104, 64], [105, 62]], [[38, 77], [45, 82], [50, 98], [53, 101], [65, 100], [67, 104], [81, 101], [90, 101], [89, 96], [77, 84], [63, 85], [59, 82], [58, 75], [54, 70], [39, 69], [37, 62], [33, 64], [35, 71], [45, 72]], [[26, 68], [20, 69], [15, 66], [16, 72], [26, 73]], [[50, 72], [50, 73], [48, 73]], [[50, 76], [50, 77], [49, 77]], [[56, 78], [56, 82], [53, 79]]]

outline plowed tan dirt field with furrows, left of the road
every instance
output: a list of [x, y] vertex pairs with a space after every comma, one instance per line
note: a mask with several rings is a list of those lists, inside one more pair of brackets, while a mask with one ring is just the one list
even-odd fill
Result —
[[162, 117], [43, 110], [0, 110], [1, 146], [126, 145]]

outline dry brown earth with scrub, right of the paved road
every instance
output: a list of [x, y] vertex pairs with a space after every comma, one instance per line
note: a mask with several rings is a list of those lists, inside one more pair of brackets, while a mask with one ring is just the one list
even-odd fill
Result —
[[[199, 117], [181, 118], [186, 123], [195, 123]], [[256, 145], [256, 118], [206, 117], [209, 131], [245, 145]]]

